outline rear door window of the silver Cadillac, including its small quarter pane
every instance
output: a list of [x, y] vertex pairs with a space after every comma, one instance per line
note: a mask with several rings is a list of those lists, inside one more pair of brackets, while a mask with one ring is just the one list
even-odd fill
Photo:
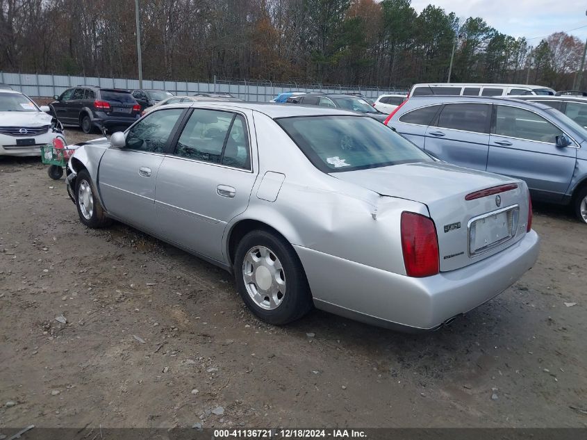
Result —
[[177, 142], [176, 156], [250, 169], [247, 124], [242, 115], [197, 108]]

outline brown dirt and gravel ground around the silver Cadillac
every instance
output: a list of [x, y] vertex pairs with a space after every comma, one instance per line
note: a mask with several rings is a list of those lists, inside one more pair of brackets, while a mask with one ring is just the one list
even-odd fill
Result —
[[534, 269], [438, 332], [321, 311], [272, 327], [228, 273], [118, 223], [84, 227], [63, 179], [0, 158], [0, 432], [585, 427], [587, 227], [538, 206], [534, 228]]

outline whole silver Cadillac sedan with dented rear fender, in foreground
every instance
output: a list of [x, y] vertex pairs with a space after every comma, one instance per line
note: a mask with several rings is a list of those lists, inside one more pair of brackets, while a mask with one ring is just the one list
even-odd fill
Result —
[[524, 181], [439, 162], [333, 108], [165, 106], [81, 145], [67, 173], [84, 225], [119, 220], [232, 272], [275, 325], [317, 307], [436, 329], [538, 256]]

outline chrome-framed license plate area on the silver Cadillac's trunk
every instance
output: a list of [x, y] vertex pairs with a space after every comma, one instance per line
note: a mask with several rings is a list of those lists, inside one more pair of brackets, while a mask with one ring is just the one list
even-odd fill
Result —
[[469, 252], [478, 254], [491, 247], [508, 241], [515, 231], [518, 208], [510, 208], [503, 211], [483, 215], [473, 220], [469, 226]]

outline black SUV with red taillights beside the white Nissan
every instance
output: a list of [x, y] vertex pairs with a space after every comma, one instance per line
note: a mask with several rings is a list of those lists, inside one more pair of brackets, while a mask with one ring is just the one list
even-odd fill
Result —
[[94, 129], [126, 129], [140, 117], [140, 105], [128, 90], [78, 85], [68, 88], [49, 104], [51, 115], [64, 125]]

